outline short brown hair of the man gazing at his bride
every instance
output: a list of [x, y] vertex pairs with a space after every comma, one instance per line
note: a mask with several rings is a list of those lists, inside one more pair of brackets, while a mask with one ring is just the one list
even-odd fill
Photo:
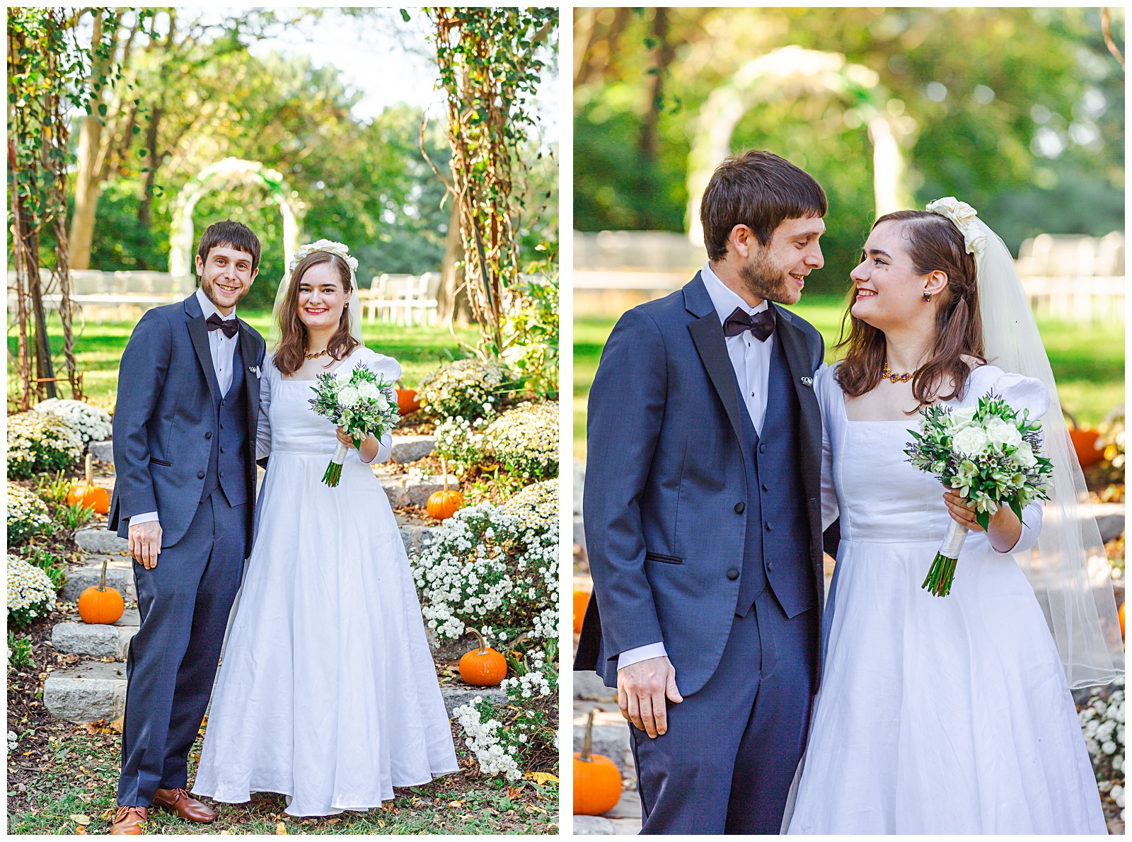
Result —
[[814, 177], [772, 152], [751, 149], [715, 167], [700, 203], [707, 257], [727, 257], [731, 229], [746, 225], [763, 246], [783, 220], [825, 216], [825, 191]]

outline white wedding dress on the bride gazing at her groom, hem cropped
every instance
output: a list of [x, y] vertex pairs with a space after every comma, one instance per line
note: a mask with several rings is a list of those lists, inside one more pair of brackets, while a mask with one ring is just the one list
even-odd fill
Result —
[[[950, 523], [943, 487], [903, 453], [918, 416], [849, 421], [818, 371], [825, 519], [841, 517], [827, 648], [789, 833], [1107, 833], [1097, 782], [1041, 609], [1010, 555], [967, 536], [951, 594], [920, 584]], [[994, 389], [1030, 416], [1040, 381], [993, 366], [955, 406]], [[832, 450], [832, 453], [830, 453]], [[1014, 551], [1034, 545], [1040, 506]], [[792, 810], [792, 814], [791, 814]]]

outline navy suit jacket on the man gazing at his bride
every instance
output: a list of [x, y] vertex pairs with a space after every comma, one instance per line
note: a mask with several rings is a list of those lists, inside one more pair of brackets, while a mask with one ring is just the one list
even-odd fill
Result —
[[[812, 325], [770, 306], [798, 395], [809, 562], [822, 594], [813, 377], [824, 343]], [[593, 598], [575, 669], [597, 670], [612, 687], [619, 653], [663, 641], [685, 696], [715, 671], [739, 592], [727, 570], [743, 566], [747, 525], [740, 412], [723, 327], [698, 273], [621, 316], [590, 389], [583, 513]], [[820, 629], [821, 599], [814, 615]]]

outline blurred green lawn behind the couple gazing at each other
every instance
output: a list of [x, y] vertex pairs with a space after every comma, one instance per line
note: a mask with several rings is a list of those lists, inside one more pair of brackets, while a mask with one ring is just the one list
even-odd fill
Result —
[[[825, 340], [825, 359], [841, 329], [840, 300], [804, 301], [790, 309], [809, 321]], [[616, 318], [574, 321], [574, 456], [585, 458], [585, 403], [598, 370], [601, 349]], [[1082, 424], [1100, 422], [1124, 402], [1124, 323], [1066, 323], [1038, 319], [1038, 329], [1057, 378], [1062, 406]]]

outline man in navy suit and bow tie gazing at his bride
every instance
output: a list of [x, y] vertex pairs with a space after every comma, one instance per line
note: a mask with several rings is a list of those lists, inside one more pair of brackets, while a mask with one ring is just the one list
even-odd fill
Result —
[[777, 304], [822, 267], [825, 209], [778, 155], [720, 164], [701, 205], [707, 264], [621, 317], [590, 392], [593, 598], [574, 669], [617, 686], [642, 833], [779, 833], [805, 746], [824, 347]]

